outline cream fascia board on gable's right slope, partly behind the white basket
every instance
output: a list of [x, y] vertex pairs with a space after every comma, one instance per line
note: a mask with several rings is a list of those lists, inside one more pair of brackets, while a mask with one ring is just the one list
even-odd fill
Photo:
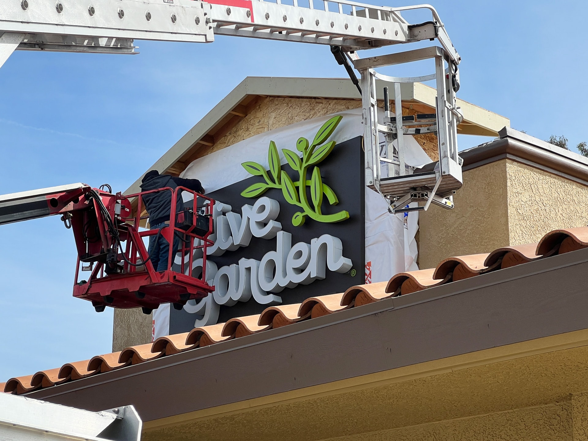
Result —
[[[437, 92], [432, 87], [422, 83], [415, 83], [415, 101], [435, 108], [436, 96]], [[460, 126], [460, 133], [465, 135], [496, 136], [503, 127], [510, 127], [510, 119], [505, 116], [487, 111], [480, 106], [463, 101], [463, 99], [457, 98], [457, 106], [462, 108], [464, 121], [476, 126], [472, 128], [471, 133], [467, 125]]]

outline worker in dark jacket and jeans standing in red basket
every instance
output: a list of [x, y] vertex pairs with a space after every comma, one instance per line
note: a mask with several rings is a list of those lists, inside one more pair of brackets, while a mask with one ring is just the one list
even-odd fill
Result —
[[[152, 170], [145, 173], [141, 181], [141, 191], [156, 190], [159, 188], [185, 187], [201, 195], [204, 194], [202, 184], [198, 179], [176, 178], [170, 175], [160, 175], [158, 171]], [[169, 190], [148, 193], [143, 195], [145, 208], [149, 213], [149, 225], [151, 229], [165, 228], [169, 225], [169, 215], [172, 211], [172, 195]], [[176, 213], [183, 211], [183, 200], [181, 192], [178, 192], [176, 201]], [[173, 235], [172, 256], [178, 252], [182, 239], [178, 234]], [[161, 234], [149, 236], [149, 256], [156, 271], [168, 269], [169, 242]], [[172, 260], [173, 262], [173, 260]]]

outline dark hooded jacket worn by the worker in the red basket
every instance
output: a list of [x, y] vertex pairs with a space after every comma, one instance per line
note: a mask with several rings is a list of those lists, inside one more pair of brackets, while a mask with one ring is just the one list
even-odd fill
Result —
[[[155, 175], [148, 176], [145, 181], [141, 183], [142, 191], [155, 190], [158, 188], [172, 188], [186, 187], [192, 191], [203, 193], [204, 189], [198, 179], [183, 179], [176, 178], [170, 175]], [[166, 222], [169, 220], [169, 213], [172, 210], [172, 197], [171, 192], [161, 191], [155, 193], [149, 193], [143, 196], [143, 202], [145, 208], [149, 213], [149, 223], [151, 225], [158, 225], [159, 223]], [[183, 210], [183, 201], [181, 193], [178, 193], [178, 201], [176, 202], [176, 213]]]

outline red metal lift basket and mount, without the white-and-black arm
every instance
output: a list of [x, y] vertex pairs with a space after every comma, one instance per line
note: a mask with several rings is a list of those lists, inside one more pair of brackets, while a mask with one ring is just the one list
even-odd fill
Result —
[[[208, 239], [213, 228], [213, 199], [182, 187], [163, 188], [128, 196], [123, 196], [121, 193], [112, 195], [97, 189], [93, 189], [93, 192], [84, 193], [78, 203], [67, 207], [69, 214], [66, 216], [71, 219], [78, 247], [75, 297], [91, 300], [96, 310], [103, 310], [105, 306], [113, 308], [141, 306], [151, 310], [161, 303], [168, 302], [181, 308], [189, 299], [204, 298], [214, 290], [214, 287], [206, 282], [206, 248], [213, 244]], [[143, 229], [141, 228], [141, 222], [145, 220], [141, 219], [143, 196], [154, 192], [170, 192], [172, 203], [169, 227]], [[182, 212], [182, 216], [188, 216], [188, 222], [178, 225], [176, 220], [178, 216], [173, 213], [176, 213], [176, 201], [182, 194], [191, 194], [198, 205], [191, 211]], [[96, 196], [102, 202], [102, 209]], [[138, 202], [135, 215], [132, 215], [131, 208], [133, 198], [136, 198]], [[62, 209], [59, 212], [66, 212], [66, 210]], [[196, 230], [200, 216], [205, 219], [205, 223], [202, 224], [201, 220], [198, 225], [208, 226], [205, 232], [202, 228]], [[191, 225], [186, 226], [190, 223]], [[112, 227], [116, 235], [112, 233]], [[156, 272], [149, 260], [148, 250], [143, 240], [157, 234], [163, 236], [169, 243], [173, 243], [173, 235], [181, 236], [181, 247], [178, 253], [188, 257], [188, 262], [181, 257], [180, 262], [175, 264], [176, 256], [172, 256], [170, 252], [168, 269]], [[195, 252], [202, 255], [202, 266], [198, 266], [202, 268], [202, 271], [197, 273], [196, 270], [190, 270], [193, 268]], [[84, 264], [86, 270], [91, 270], [87, 280], [82, 279]]]

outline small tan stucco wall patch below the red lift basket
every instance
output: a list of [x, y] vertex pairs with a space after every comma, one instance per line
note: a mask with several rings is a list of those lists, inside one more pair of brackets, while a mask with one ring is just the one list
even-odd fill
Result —
[[112, 352], [149, 343], [152, 339], [152, 314], [143, 314], [141, 308], [115, 309], [112, 328]]

